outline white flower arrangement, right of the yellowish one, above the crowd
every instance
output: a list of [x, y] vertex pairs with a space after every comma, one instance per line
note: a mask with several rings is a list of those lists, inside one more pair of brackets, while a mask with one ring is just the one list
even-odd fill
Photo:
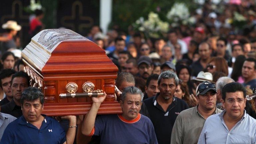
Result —
[[189, 9], [184, 3], [175, 3], [166, 17], [173, 27], [180, 24], [194, 24], [196, 22], [195, 17], [190, 17]]

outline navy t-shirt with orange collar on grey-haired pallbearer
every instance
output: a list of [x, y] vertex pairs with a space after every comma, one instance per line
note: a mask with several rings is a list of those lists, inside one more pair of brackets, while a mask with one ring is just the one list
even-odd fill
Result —
[[99, 135], [102, 144], [157, 144], [152, 122], [141, 114], [132, 121], [121, 114], [98, 115], [91, 134]]

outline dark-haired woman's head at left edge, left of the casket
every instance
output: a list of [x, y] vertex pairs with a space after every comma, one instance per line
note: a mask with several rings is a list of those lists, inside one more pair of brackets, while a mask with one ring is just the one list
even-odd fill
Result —
[[5, 52], [1, 57], [1, 64], [3, 69], [13, 69], [15, 63], [15, 56], [12, 52]]

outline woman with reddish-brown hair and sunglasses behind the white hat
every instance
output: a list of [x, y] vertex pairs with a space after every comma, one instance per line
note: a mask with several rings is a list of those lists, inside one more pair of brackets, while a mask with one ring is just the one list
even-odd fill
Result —
[[228, 76], [228, 63], [224, 58], [212, 57], [206, 66], [207, 71], [213, 74], [215, 71], [223, 72]]

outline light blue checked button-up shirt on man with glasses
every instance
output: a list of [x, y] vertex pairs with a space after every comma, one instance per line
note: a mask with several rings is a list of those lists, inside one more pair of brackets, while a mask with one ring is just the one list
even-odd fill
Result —
[[198, 144], [255, 144], [256, 119], [244, 110], [242, 119], [229, 131], [223, 119], [225, 112], [206, 119]]

